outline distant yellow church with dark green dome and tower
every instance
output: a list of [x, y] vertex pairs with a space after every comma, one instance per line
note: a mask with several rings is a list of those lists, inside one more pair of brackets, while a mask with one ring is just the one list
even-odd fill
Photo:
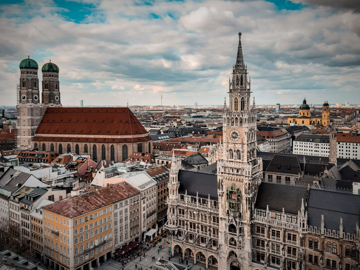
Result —
[[302, 104], [299, 108], [299, 115], [288, 117], [288, 124], [296, 123], [298, 125], [330, 125], [330, 110], [329, 104], [325, 102], [323, 104], [323, 113], [322, 115], [311, 115], [310, 106], [306, 104], [306, 99], [304, 98]]

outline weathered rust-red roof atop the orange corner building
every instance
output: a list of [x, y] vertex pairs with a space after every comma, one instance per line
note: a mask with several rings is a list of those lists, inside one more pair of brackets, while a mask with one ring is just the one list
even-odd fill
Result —
[[139, 193], [132, 185], [121, 182], [106, 188], [99, 187], [94, 192], [70, 197], [42, 209], [71, 219]]

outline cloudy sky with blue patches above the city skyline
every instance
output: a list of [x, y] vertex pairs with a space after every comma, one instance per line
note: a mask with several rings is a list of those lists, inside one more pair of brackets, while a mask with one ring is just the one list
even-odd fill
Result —
[[239, 31], [256, 104], [360, 101], [358, 0], [0, 3], [0, 105], [27, 55], [59, 66], [63, 105], [222, 104]]

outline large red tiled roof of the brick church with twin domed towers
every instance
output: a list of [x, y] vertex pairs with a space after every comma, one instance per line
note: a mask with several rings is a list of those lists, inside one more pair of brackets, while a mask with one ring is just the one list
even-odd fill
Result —
[[[52, 136], [55, 134], [64, 137]], [[33, 141], [132, 143], [151, 140], [147, 134], [129, 108], [48, 108]], [[73, 137], [69, 138], [66, 135]], [[136, 135], [144, 136], [131, 138]], [[100, 136], [107, 138], [99, 138]], [[123, 138], [117, 138], [118, 136]]]

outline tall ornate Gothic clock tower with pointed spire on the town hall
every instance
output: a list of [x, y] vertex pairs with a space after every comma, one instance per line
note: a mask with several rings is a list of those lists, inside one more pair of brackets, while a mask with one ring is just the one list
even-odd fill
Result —
[[251, 267], [251, 216], [262, 177], [256, 157], [256, 108], [251, 105], [241, 46], [241, 32], [233, 78], [229, 81], [229, 108], [222, 112], [223, 143], [216, 155], [219, 195], [219, 270]]

